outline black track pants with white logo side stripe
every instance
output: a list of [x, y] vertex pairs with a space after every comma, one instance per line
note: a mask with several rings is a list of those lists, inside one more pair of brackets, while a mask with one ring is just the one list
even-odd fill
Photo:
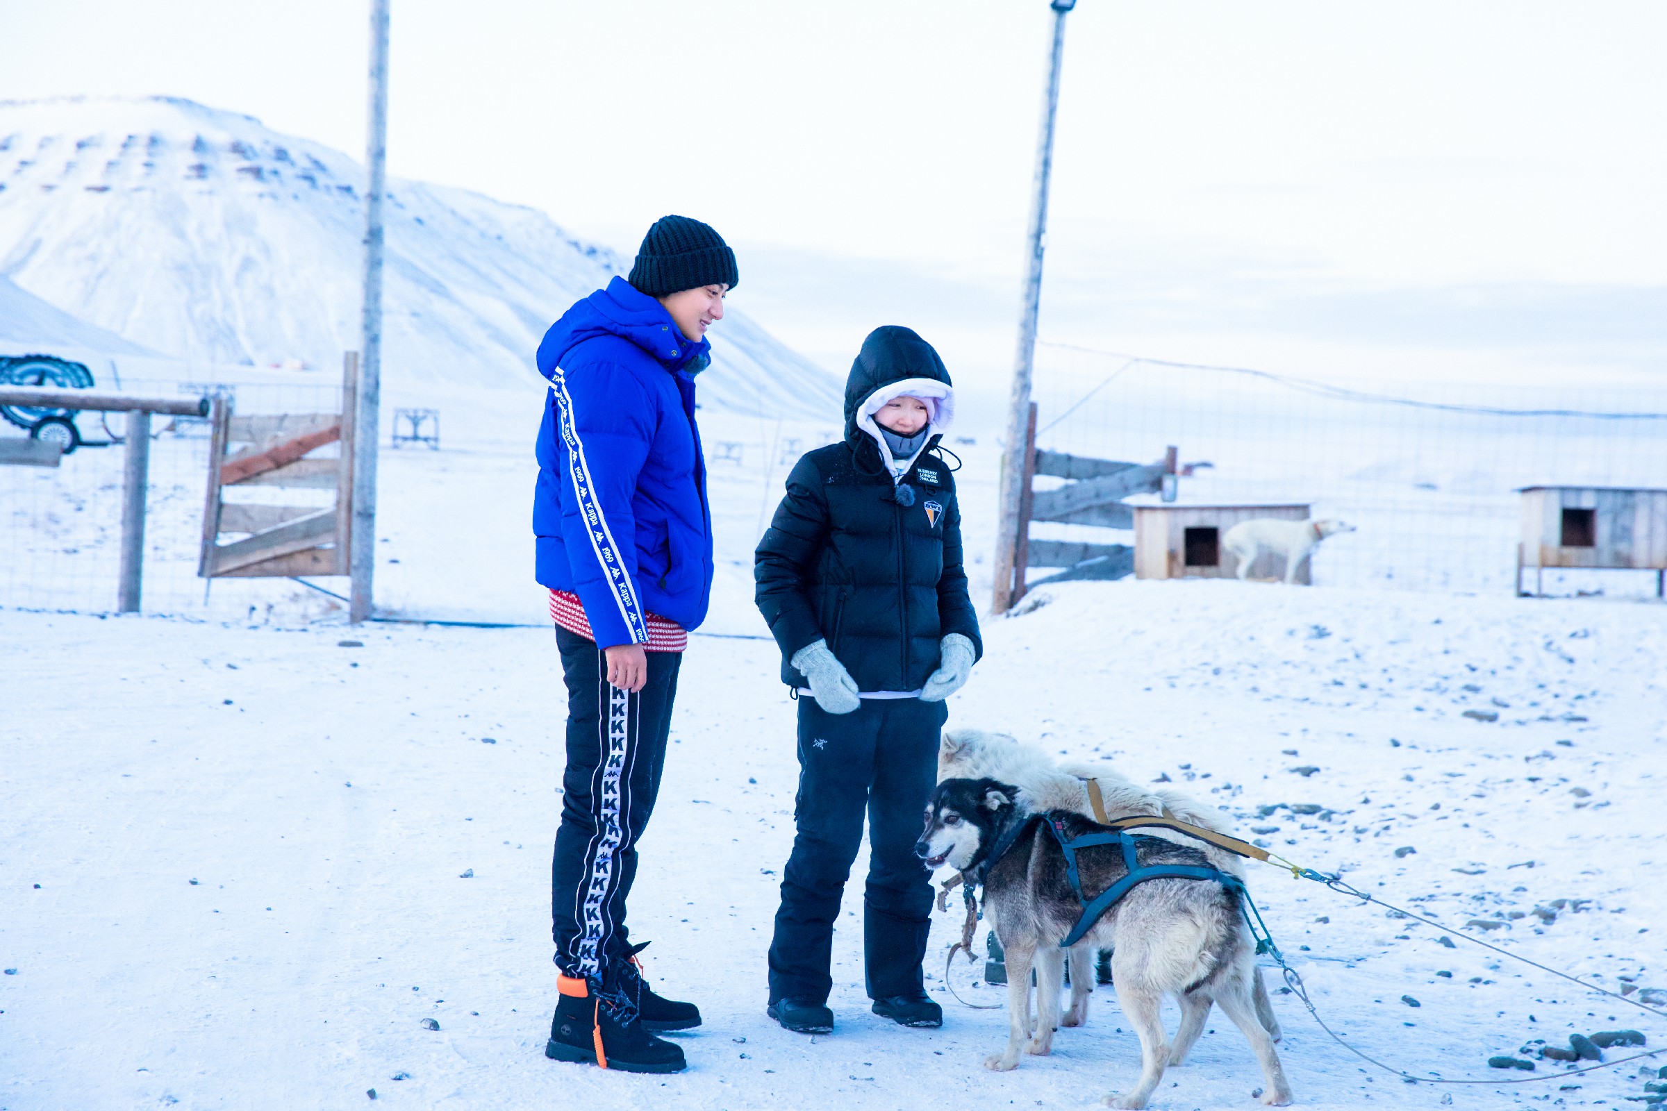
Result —
[[625, 896], [660, 793], [683, 653], [647, 653], [648, 681], [632, 695], [608, 683], [595, 641], [557, 626], [555, 643], [567, 680], [567, 771], [550, 864], [555, 963], [595, 979], [627, 948]]

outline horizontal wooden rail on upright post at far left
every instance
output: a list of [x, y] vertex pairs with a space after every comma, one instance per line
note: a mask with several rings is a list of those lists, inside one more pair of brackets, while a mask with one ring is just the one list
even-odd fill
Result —
[[[93, 393], [92, 390], [40, 390], [35, 386], [0, 386], [0, 405], [92, 410], [127, 413], [127, 453], [122, 465], [122, 571], [117, 585], [117, 608], [138, 613], [145, 580], [145, 491], [150, 488], [150, 415], [203, 416], [208, 398], [142, 398], [128, 393]], [[38, 440], [35, 446], [10, 446], [0, 451], [0, 463], [57, 466], [62, 448]]]

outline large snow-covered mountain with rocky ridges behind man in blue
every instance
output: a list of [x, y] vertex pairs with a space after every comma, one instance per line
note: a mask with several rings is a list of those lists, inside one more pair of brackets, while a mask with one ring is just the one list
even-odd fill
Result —
[[[333, 368], [358, 345], [363, 168], [258, 120], [167, 97], [0, 102], [0, 278], [187, 360]], [[383, 373], [537, 381], [532, 353], [612, 252], [542, 212], [388, 185]], [[742, 313], [702, 403], [828, 416], [839, 381]]]

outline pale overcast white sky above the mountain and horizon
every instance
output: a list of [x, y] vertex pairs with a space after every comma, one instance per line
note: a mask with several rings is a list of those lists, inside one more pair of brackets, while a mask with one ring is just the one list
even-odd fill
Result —
[[[0, 98], [170, 93], [363, 150], [367, 3], [0, 0]], [[393, 0], [390, 170], [737, 301], [1010, 365], [1045, 0]], [[1667, 370], [1667, 3], [1080, 0], [1044, 333], [1297, 373]]]

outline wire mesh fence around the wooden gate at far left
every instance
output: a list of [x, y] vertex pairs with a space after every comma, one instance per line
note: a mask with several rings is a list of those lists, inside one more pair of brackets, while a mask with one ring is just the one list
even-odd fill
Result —
[[[215, 381], [122, 381], [138, 396], [222, 395], [235, 411], [333, 413], [342, 391], [325, 385], [225, 385]], [[127, 418], [78, 413], [82, 445], [58, 466], [0, 466], [0, 605], [25, 610], [110, 611], [117, 608], [122, 541], [122, 483]], [[290, 580], [197, 576], [208, 475], [208, 421], [152, 420], [145, 498], [142, 608], [197, 618], [305, 620], [337, 603]], [[22, 435], [8, 428], [0, 435]], [[328, 491], [285, 491], [308, 498]], [[272, 498], [270, 493], [265, 495]]]

